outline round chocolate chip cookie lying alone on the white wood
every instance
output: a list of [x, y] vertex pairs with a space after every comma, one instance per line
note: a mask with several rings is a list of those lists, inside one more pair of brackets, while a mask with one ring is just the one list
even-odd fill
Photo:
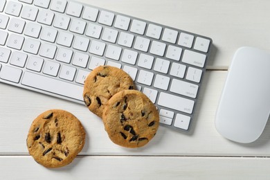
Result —
[[47, 168], [68, 165], [82, 150], [84, 128], [68, 111], [52, 109], [35, 118], [27, 136], [28, 152]]

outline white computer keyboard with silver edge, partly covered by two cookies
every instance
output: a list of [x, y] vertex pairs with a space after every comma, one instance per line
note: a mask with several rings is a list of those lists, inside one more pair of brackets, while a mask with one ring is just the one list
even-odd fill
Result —
[[84, 104], [96, 66], [123, 69], [160, 112], [188, 130], [212, 40], [66, 0], [0, 0], [0, 82]]

